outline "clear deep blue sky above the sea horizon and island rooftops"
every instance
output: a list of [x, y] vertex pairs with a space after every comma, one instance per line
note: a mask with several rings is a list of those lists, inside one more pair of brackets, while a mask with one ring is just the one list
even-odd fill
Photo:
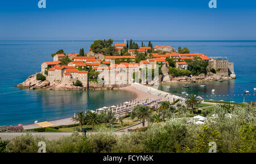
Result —
[[1, 1], [0, 40], [256, 40], [253, 0]]

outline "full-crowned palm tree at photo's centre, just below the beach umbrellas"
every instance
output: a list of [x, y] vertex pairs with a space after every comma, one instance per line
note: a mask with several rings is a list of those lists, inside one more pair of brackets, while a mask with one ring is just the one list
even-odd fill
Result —
[[149, 106], [136, 106], [136, 115], [137, 118], [142, 120], [142, 126], [145, 126], [145, 120], [148, 120], [151, 115], [150, 107]]

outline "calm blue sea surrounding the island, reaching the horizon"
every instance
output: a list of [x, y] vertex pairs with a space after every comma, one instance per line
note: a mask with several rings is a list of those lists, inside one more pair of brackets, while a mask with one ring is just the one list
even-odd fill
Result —
[[[67, 118], [80, 110], [97, 109], [117, 105], [135, 98], [133, 93], [122, 90], [28, 90], [14, 87], [28, 76], [40, 71], [40, 64], [52, 61], [51, 54], [59, 49], [65, 53], [79, 53], [80, 48], [89, 49], [93, 41], [0, 41], [0, 125], [31, 124]], [[120, 43], [121, 41], [117, 42]], [[177, 94], [187, 92], [197, 95], [242, 94], [243, 90], [255, 93], [256, 88], [256, 42], [255, 41], [152, 41], [153, 45], [187, 46], [191, 53], [204, 53], [209, 57], [225, 56], [234, 62], [236, 80], [224, 82], [161, 85], [159, 89]], [[144, 41], [146, 43], [146, 41]], [[141, 41], [138, 41], [141, 45]], [[167, 88], [170, 86], [171, 88]], [[242, 102], [243, 96], [209, 97], [213, 100]], [[245, 101], [255, 101], [256, 96], [246, 96]]]

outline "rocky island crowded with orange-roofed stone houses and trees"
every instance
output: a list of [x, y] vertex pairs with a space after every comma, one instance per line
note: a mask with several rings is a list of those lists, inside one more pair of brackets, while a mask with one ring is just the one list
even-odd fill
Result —
[[[51, 54], [52, 61], [41, 64], [41, 72], [29, 76], [19, 88], [85, 90], [118, 89], [137, 82], [144, 85], [236, 79], [234, 63], [226, 57], [190, 53], [188, 48], [138, 46], [133, 40], [113, 44], [96, 40], [84, 53]], [[151, 78], [148, 78], [151, 76]]]

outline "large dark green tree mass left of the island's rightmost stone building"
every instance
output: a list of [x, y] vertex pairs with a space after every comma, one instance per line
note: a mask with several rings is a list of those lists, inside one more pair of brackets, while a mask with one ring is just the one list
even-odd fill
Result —
[[188, 64], [188, 70], [191, 71], [192, 75], [207, 74], [208, 62], [203, 61], [200, 57], [194, 57], [195, 59], [186, 59], [185, 62]]

